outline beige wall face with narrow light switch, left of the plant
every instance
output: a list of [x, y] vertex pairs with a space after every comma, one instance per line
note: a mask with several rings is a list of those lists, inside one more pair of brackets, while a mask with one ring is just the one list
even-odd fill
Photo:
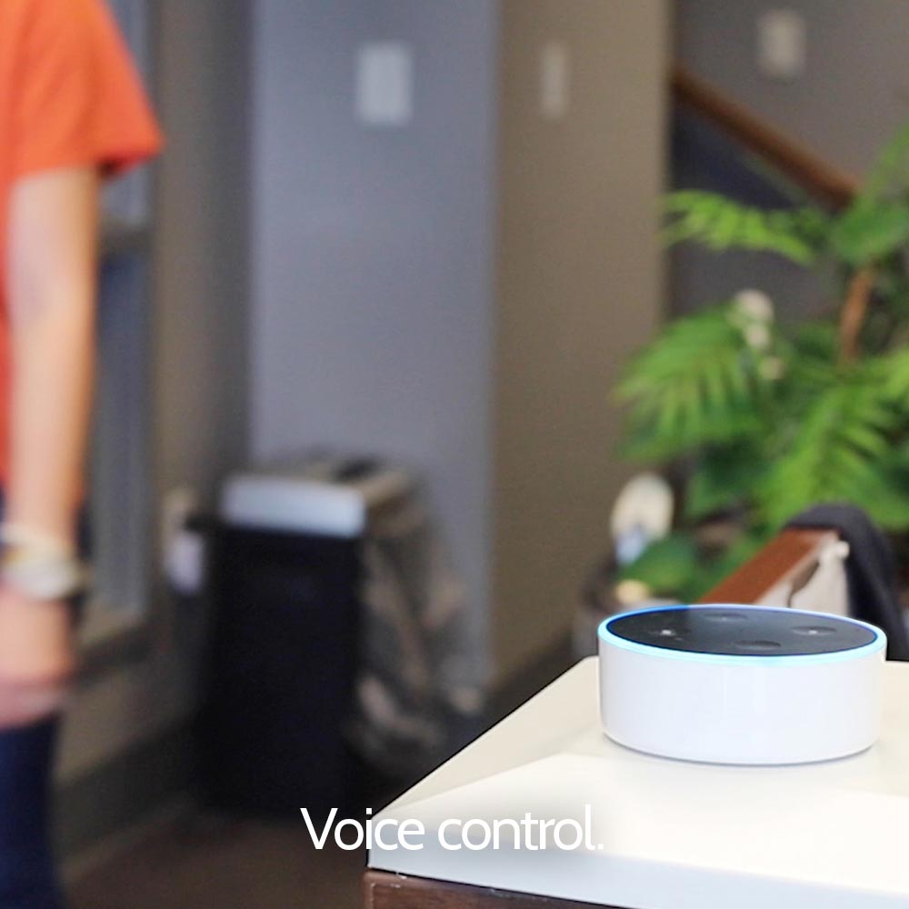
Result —
[[[494, 655], [513, 674], [568, 628], [609, 508], [616, 370], [661, 309], [662, 0], [505, 0], [502, 20]], [[570, 104], [539, 112], [545, 42]]]

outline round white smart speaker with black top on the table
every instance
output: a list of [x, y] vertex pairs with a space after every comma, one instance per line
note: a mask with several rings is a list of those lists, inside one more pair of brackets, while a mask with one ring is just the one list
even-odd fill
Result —
[[598, 628], [614, 742], [711, 764], [804, 764], [874, 744], [886, 638], [874, 625], [767, 606], [660, 606]]

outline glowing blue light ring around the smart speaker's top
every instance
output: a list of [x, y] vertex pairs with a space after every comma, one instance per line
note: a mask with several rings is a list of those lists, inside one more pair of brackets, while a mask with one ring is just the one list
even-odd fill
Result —
[[844, 660], [860, 659], [863, 656], [877, 653], [884, 650], [887, 645], [887, 638], [880, 628], [874, 627], [873, 624], [861, 622], [858, 619], [846, 618], [843, 615], [833, 615], [832, 617], [839, 622], [849, 622], [851, 624], [861, 625], [867, 631], [874, 634], [874, 641], [868, 644], [862, 644], [861, 647], [853, 647], [849, 650], [834, 650], [829, 654], [700, 654], [693, 650], [674, 650], [670, 647], [659, 647], [653, 644], [640, 644], [637, 641], [628, 641], [618, 634], [613, 634], [608, 625], [618, 619], [628, 618], [630, 615], [643, 615], [644, 613], [668, 613], [678, 612], [683, 609], [744, 609], [744, 610], [764, 610], [776, 613], [787, 613], [790, 615], [804, 615], [808, 619], [816, 620], [819, 615], [830, 615], [829, 613], [810, 613], [804, 609], [790, 609], [787, 606], [755, 606], [742, 603], [704, 603], [700, 605], [677, 605], [677, 606], [649, 606], [646, 609], [634, 609], [627, 613], [617, 613], [604, 619], [596, 628], [596, 636], [614, 647], [623, 650], [630, 650], [635, 654], [644, 654], [646, 656], [656, 656], [663, 659], [682, 660], [688, 663], [710, 663], [725, 665], [767, 665], [767, 666], [792, 666], [819, 663], [839, 663]]

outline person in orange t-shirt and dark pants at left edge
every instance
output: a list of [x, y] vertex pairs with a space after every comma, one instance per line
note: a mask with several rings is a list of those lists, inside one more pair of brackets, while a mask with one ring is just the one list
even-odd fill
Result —
[[57, 909], [47, 797], [75, 663], [99, 184], [161, 138], [103, 0], [0, 0], [0, 906]]

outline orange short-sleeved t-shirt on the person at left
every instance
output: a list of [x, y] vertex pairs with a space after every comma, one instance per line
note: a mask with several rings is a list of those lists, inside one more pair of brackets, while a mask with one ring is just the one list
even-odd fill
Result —
[[161, 146], [103, 0], [0, 0], [0, 478], [8, 458], [10, 188], [61, 167], [122, 172]]

